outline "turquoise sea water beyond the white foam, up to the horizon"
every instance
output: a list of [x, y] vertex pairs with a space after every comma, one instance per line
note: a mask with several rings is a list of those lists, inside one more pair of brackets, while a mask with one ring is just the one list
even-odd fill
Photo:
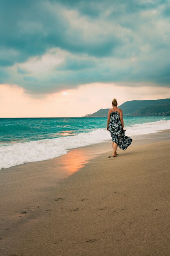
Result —
[[[160, 120], [170, 120], [170, 117], [124, 117], [124, 125], [131, 127]], [[78, 135], [106, 128], [106, 123], [106, 117], [0, 118], [0, 146]]]

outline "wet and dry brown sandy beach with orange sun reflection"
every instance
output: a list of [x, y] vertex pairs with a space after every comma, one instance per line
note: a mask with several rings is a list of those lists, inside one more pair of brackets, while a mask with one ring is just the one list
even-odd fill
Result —
[[169, 256], [170, 131], [0, 170], [0, 255]]

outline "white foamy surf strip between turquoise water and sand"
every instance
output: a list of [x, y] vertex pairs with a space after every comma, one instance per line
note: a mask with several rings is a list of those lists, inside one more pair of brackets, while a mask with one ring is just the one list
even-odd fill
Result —
[[[170, 129], [170, 120], [161, 120], [127, 127], [126, 135], [141, 135]], [[75, 136], [29, 141], [0, 147], [0, 169], [18, 164], [37, 162], [59, 157], [71, 148], [79, 148], [104, 141], [111, 141], [110, 132], [97, 129]]]

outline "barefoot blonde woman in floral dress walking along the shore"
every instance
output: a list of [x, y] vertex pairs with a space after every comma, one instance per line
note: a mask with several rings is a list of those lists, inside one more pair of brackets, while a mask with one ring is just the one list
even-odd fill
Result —
[[113, 108], [108, 111], [107, 130], [112, 136], [113, 157], [116, 157], [118, 155], [116, 152], [117, 146], [126, 150], [132, 139], [125, 135], [123, 113], [120, 108], [117, 108], [116, 99], [113, 99], [112, 106]]

